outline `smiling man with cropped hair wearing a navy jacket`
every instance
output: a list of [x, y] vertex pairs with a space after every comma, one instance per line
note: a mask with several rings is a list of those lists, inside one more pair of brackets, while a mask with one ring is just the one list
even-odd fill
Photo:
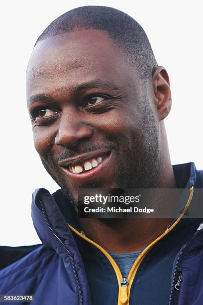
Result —
[[[58, 17], [35, 43], [27, 104], [61, 189], [33, 193], [42, 245], [1, 247], [0, 294], [39, 305], [203, 304], [201, 219], [183, 219], [203, 172], [171, 165], [169, 77], [141, 26], [104, 6]], [[174, 219], [80, 219], [79, 188], [184, 188], [183, 209]]]

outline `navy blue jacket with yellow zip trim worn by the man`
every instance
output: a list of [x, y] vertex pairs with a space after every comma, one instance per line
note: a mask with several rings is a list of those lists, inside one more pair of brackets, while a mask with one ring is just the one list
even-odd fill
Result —
[[182, 218], [195, 189], [203, 188], [203, 171], [194, 163], [173, 169], [177, 186], [185, 188], [183, 213], [144, 249], [128, 286], [121, 287], [105, 249], [81, 232], [61, 190], [51, 195], [41, 188], [32, 196], [32, 219], [42, 244], [0, 247], [0, 295], [34, 295], [33, 305], [203, 304], [202, 219]]

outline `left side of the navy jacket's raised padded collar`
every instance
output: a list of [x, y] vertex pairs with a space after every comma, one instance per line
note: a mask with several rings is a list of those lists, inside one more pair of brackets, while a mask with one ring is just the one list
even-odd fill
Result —
[[[61, 191], [58, 191], [57, 195], [59, 195], [57, 197], [60, 198]], [[45, 247], [54, 249], [59, 255], [67, 256], [67, 253], [65, 253], [62, 243], [60, 242], [61, 240], [69, 251], [72, 254], [76, 254], [79, 259], [75, 240], [67, 225], [67, 221], [59, 209], [60, 204], [61, 200], [56, 202], [55, 197], [46, 189], [36, 189], [32, 194], [31, 216], [33, 225]], [[67, 199], [66, 204], [69, 206]], [[72, 218], [73, 212], [71, 213], [70, 208], [68, 212], [70, 213], [69, 217]], [[53, 232], [55, 232], [55, 235]]]

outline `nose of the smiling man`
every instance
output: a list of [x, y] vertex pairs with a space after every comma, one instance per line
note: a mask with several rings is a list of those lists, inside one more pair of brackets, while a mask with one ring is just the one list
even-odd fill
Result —
[[91, 139], [93, 128], [88, 126], [78, 115], [63, 114], [60, 118], [55, 144], [73, 148], [79, 143]]

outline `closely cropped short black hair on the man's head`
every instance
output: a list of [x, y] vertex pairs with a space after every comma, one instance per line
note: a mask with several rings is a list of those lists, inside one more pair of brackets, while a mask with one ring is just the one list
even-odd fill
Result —
[[137, 21], [112, 7], [90, 5], [69, 10], [47, 26], [35, 45], [51, 36], [90, 28], [106, 31], [127, 61], [136, 65], [140, 77], [148, 79], [157, 62], [147, 35]]

